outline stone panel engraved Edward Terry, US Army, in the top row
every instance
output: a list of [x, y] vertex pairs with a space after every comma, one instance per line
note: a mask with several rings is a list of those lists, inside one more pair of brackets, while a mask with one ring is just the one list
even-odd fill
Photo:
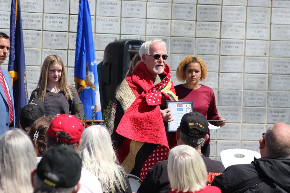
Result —
[[122, 17], [145, 18], [146, 2], [122, 1]]

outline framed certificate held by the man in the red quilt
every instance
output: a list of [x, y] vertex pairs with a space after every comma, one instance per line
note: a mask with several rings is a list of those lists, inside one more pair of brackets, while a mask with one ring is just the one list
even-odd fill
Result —
[[166, 101], [166, 107], [170, 109], [174, 119], [168, 122], [168, 132], [175, 132], [180, 125], [181, 118], [184, 114], [192, 112], [192, 101]]

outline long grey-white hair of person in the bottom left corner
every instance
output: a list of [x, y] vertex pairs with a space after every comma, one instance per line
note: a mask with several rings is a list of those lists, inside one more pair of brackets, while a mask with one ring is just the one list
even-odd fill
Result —
[[31, 139], [21, 129], [6, 131], [0, 138], [0, 184], [3, 192], [31, 193], [31, 170], [37, 165]]

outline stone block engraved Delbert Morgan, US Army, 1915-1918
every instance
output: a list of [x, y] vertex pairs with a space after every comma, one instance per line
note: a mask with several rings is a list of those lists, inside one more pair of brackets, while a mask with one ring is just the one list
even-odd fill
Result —
[[43, 30], [46, 31], [68, 31], [68, 15], [44, 14]]

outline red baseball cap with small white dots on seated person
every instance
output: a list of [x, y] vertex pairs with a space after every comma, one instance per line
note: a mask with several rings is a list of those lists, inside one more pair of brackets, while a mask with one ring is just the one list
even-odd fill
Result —
[[[57, 131], [64, 131], [68, 133], [71, 139], [63, 139], [56, 137]], [[47, 133], [49, 137], [63, 143], [77, 143], [81, 140], [81, 134], [84, 131], [84, 126], [81, 120], [74, 115], [60, 114], [57, 115], [49, 125]]]

